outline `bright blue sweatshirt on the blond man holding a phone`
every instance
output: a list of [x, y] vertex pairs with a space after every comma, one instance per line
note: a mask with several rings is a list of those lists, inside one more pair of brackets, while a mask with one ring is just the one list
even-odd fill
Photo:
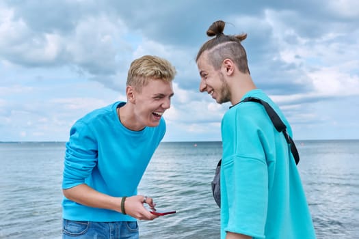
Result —
[[[152, 154], [165, 135], [165, 121], [159, 126], [132, 131], [124, 127], [116, 102], [79, 119], [70, 129], [66, 143], [62, 188], [88, 184], [114, 197], [137, 195], [137, 186]], [[113, 210], [83, 206], [64, 197], [63, 218], [73, 221], [135, 221]]]

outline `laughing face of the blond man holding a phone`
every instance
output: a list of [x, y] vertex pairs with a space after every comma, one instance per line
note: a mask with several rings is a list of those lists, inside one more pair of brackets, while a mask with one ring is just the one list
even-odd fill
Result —
[[[131, 87], [131, 86], [128, 86]], [[163, 113], [170, 108], [173, 96], [172, 82], [149, 79], [141, 90], [131, 88], [137, 128], [159, 125]]]

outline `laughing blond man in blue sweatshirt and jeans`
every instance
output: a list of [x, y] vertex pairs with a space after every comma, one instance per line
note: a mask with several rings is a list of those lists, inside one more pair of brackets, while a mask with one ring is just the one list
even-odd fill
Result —
[[139, 238], [137, 219], [153, 220], [151, 197], [137, 186], [165, 135], [162, 115], [174, 94], [174, 67], [146, 55], [132, 62], [127, 102], [79, 119], [66, 143], [63, 238]]

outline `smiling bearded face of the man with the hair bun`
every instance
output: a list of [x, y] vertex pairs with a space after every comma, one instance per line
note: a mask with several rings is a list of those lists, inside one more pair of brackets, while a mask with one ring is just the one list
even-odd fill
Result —
[[219, 104], [230, 101], [230, 90], [221, 70], [215, 70], [203, 53], [197, 61], [200, 72], [200, 92], [207, 92]]

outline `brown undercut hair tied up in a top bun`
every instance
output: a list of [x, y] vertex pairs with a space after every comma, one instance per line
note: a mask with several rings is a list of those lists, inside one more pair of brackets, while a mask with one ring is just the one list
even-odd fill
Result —
[[240, 72], [244, 74], [250, 74], [248, 68], [247, 53], [241, 44], [241, 41], [247, 38], [246, 33], [240, 35], [225, 35], [223, 33], [226, 23], [223, 20], [217, 20], [207, 30], [207, 36], [213, 37], [205, 42], [200, 51], [198, 51], [196, 61], [206, 51], [208, 53], [208, 61], [215, 68], [219, 70], [224, 59], [231, 59], [235, 62]]

